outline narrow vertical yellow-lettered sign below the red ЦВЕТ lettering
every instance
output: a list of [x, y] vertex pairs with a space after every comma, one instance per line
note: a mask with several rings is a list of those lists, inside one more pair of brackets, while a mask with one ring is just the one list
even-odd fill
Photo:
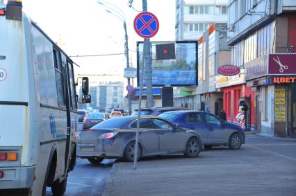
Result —
[[286, 91], [283, 88], [274, 89], [274, 120], [286, 122]]

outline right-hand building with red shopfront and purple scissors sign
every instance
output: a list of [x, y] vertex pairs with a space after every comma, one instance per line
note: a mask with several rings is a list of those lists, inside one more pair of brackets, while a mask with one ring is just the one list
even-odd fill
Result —
[[254, 130], [295, 137], [296, 1], [229, 0], [228, 12], [231, 62], [243, 72], [227, 81], [235, 86], [216, 84], [230, 97], [224, 106], [233, 112], [231, 103], [247, 99]]

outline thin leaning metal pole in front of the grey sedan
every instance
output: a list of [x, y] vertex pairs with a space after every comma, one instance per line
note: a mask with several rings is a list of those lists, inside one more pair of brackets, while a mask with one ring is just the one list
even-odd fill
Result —
[[137, 159], [138, 159], [138, 153], [136, 152], [138, 152], [138, 143], [139, 143], [140, 113], [141, 113], [141, 102], [142, 102], [145, 56], [146, 56], [146, 51], [145, 51], [145, 47], [143, 47], [142, 67], [141, 67], [141, 73], [140, 73], [140, 96], [139, 96], [139, 106], [138, 106], [138, 120], [137, 120], [137, 130], [135, 132], [135, 153], [133, 155], [133, 170], [137, 168]]

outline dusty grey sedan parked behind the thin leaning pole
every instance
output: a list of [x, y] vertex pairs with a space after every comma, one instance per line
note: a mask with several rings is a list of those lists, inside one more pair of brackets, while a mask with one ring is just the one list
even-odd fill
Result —
[[[122, 158], [133, 161], [137, 118], [110, 118], [89, 130], [82, 130], [77, 140], [77, 155], [90, 163]], [[138, 159], [152, 155], [184, 153], [197, 157], [204, 149], [201, 136], [158, 116], [140, 118]]]

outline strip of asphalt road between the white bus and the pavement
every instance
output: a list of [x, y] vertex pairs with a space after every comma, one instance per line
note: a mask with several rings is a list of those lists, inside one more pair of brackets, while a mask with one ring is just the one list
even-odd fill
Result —
[[[94, 166], [87, 159], [77, 159], [76, 167], [67, 179], [65, 196], [101, 195], [114, 161], [115, 159], [105, 159]], [[47, 188], [47, 195], [52, 195], [51, 188]]]

